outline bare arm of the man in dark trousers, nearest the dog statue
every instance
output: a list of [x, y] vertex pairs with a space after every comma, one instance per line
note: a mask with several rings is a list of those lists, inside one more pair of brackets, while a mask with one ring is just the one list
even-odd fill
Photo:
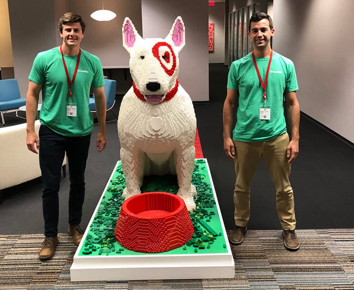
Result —
[[93, 88], [95, 94], [96, 113], [99, 125], [99, 131], [96, 139], [97, 152], [101, 152], [107, 144], [106, 138], [106, 96], [104, 95], [104, 87]]

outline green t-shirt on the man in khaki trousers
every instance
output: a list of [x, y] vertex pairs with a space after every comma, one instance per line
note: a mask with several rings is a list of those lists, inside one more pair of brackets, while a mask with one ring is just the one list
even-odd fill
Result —
[[[268, 58], [256, 58], [259, 73], [264, 82]], [[259, 119], [263, 108], [263, 88], [252, 60], [252, 53], [231, 64], [227, 88], [239, 91], [236, 126], [233, 140], [242, 142], [267, 141], [286, 132], [284, 117], [284, 92], [298, 89], [295, 67], [292, 61], [273, 52], [267, 83], [265, 106], [270, 106], [270, 120]]]

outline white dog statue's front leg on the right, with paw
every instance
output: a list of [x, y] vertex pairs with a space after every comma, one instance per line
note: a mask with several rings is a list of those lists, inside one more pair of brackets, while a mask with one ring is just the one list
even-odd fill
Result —
[[196, 196], [195, 187], [192, 185], [192, 173], [194, 168], [195, 148], [194, 144], [185, 148], [182, 152], [176, 150], [177, 153], [177, 178], [178, 193], [177, 195], [184, 200], [189, 212], [194, 211], [195, 203], [193, 197]]

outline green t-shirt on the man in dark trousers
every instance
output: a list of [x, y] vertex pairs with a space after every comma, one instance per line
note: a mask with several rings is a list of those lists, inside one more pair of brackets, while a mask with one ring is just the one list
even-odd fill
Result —
[[[64, 59], [72, 80], [78, 56], [64, 55]], [[81, 49], [78, 72], [72, 85], [72, 102], [77, 106], [76, 117], [66, 116], [66, 106], [70, 100], [69, 85], [58, 47], [40, 52], [36, 56], [28, 78], [42, 85], [41, 124], [64, 136], [85, 136], [92, 132], [90, 88], [104, 85], [102, 65], [98, 57]]]

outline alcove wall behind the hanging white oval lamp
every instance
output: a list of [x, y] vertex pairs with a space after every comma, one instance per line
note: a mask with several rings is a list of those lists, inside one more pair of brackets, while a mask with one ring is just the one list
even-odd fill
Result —
[[[117, 14], [113, 20], [97, 21], [90, 17], [91, 13], [102, 9], [102, 2], [97, 0], [52, 0], [55, 7], [56, 23], [65, 12], [81, 15], [86, 24], [84, 39], [80, 47], [97, 55], [103, 67], [129, 66], [129, 54], [122, 43], [122, 25], [125, 17], [129, 17], [139, 33], [142, 33], [140, 0], [105, 0], [104, 9]], [[62, 39], [56, 29], [56, 45]]]

